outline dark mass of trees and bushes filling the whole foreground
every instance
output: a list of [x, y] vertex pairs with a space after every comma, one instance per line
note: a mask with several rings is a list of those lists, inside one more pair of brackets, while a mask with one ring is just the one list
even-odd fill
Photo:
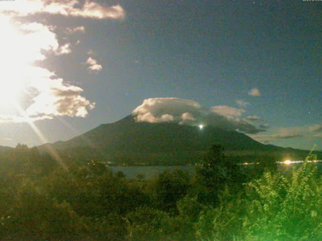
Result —
[[[314, 159], [309, 155], [308, 159]], [[0, 156], [0, 240], [321, 240], [315, 164], [241, 169], [214, 145], [196, 173], [127, 180], [19, 145]]]

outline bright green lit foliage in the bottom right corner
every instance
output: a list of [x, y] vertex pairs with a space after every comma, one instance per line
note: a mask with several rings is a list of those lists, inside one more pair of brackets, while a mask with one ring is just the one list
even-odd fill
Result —
[[201, 240], [321, 240], [322, 179], [307, 160], [289, 176], [266, 172], [244, 184], [239, 195], [224, 192], [216, 208], [201, 213]]

